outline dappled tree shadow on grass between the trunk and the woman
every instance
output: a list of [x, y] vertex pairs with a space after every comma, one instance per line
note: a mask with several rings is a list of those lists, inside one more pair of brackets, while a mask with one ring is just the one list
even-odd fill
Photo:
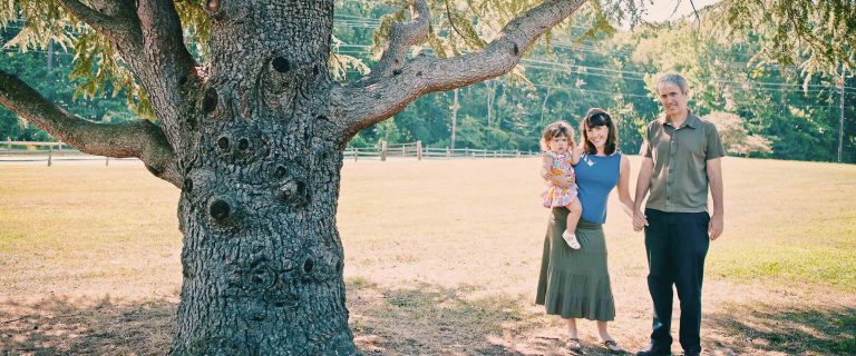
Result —
[[[561, 333], [552, 324], [557, 318], [522, 297], [469, 286], [380, 288], [361, 279], [348, 288], [350, 325], [363, 355], [568, 355], [563, 336], [545, 336]], [[584, 346], [578, 355], [610, 355]]]

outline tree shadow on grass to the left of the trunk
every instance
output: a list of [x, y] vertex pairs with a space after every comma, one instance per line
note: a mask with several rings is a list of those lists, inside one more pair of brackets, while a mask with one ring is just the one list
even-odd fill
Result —
[[164, 355], [176, 308], [109, 297], [0, 303], [0, 355]]

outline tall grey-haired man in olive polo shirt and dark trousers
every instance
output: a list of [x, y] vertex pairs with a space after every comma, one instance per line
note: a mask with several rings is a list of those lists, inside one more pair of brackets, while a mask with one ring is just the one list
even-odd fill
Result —
[[[654, 304], [651, 345], [638, 355], [671, 355], [672, 285], [680, 299], [681, 347], [684, 355], [699, 355], [704, 257], [710, 240], [722, 234], [720, 160], [726, 152], [713, 123], [687, 108], [690, 90], [683, 77], [659, 77], [656, 93], [665, 115], [648, 125], [634, 199], [633, 228], [645, 230], [648, 288]], [[643, 214], [640, 207], [649, 190]]]

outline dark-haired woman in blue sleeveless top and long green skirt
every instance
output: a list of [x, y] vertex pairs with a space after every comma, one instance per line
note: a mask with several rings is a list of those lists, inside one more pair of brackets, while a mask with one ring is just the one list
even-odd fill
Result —
[[[580, 125], [583, 156], [574, 167], [575, 177], [549, 177], [557, 186], [567, 187], [576, 180], [583, 214], [576, 227], [581, 249], [571, 249], [562, 239], [567, 208], [553, 208], [535, 303], [544, 305], [547, 314], [558, 315], [567, 324], [572, 350], [582, 349], [576, 332], [576, 319], [595, 320], [603, 345], [613, 352], [623, 352], [606, 329], [615, 319], [610, 274], [606, 268], [606, 243], [602, 224], [606, 221], [606, 198], [612, 188], [619, 188], [619, 200], [625, 214], [633, 216], [630, 197], [630, 160], [617, 152], [617, 135], [610, 113], [590, 109]], [[548, 179], [548, 172], [542, 176]]]

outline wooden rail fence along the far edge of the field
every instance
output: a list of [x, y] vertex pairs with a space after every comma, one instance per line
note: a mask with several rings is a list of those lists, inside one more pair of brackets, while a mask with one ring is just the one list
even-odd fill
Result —
[[[30, 142], [7, 140], [0, 145], [0, 161], [47, 161], [48, 166], [54, 160], [105, 160], [109, 165], [109, 157], [90, 156], [80, 152], [64, 142]], [[3, 147], [4, 146], [4, 147]], [[64, 148], [65, 147], [65, 148]], [[3, 149], [4, 148], [4, 149]], [[37, 157], [47, 155], [47, 158]], [[343, 151], [344, 159], [351, 160], [380, 160], [387, 159], [475, 159], [475, 158], [521, 158], [534, 157], [538, 152], [521, 150], [488, 150], [474, 148], [441, 148], [424, 147], [421, 141], [387, 144], [381, 141], [379, 147], [348, 147]], [[14, 159], [7, 159], [14, 157]], [[27, 159], [31, 157], [31, 159]], [[117, 158], [113, 158], [117, 159]], [[134, 159], [134, 158], [132, 158]]]

